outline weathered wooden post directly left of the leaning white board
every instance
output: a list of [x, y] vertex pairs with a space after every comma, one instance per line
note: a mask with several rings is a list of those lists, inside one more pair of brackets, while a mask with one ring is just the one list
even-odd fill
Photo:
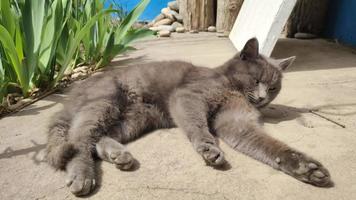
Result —
[[218, 32], [230, 32], [239, 14], [244, 0], [218, 0], [216, 29]]

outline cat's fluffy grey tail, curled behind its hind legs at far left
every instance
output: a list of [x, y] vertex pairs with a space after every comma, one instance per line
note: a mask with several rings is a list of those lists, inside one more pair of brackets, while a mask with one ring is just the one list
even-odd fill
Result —
[[67, 140], [68, 117], [64, 112], [58, 113], [49, 126], [46, 160], [57, 170], [64, 170], [77, 152], [74, 145]]

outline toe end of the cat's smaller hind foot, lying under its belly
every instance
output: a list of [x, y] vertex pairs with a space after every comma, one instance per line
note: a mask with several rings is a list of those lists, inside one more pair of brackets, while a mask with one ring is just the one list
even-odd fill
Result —
[[111, 152], [110, 159], [112, 163], [114, 163], [116, 167], [121, 170], [130, 170], [133, 167], [135, 161], [130, 152], [121, 150]]

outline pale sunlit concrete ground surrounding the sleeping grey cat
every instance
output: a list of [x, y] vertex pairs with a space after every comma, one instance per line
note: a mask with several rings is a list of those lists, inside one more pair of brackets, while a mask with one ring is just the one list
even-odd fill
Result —
[[[138, 43], [138, 51], [113, 65], [183, 59], [213, 67], [235, 50], [213, 34], [173, 35]], [[322, 189], [301, 183], [222, 144], [231, 168], [204, 164], [179, 129], [159, 130], [128, 148], [139, 160], [134, 172], [99, 163], [100, 187], [90, 199], [356, 199], [356, 55], [323, 40], [281, 39], [273, 56], [296, 55], [283, 90], [264, 110], [274, 137], [320, 160], [336, 184]], [[43, 160], [46, 125], [65, 95], [52, 95], [0, 120], [0, 199], [75, 199]], [[341, 128], [306, 109], [346, 125]]]

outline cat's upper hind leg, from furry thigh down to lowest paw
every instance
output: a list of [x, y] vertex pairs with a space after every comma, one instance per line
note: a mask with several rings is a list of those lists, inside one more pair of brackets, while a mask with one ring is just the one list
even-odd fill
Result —
[[69, 142], [77, 150], [66, 166], [67, 186], [77, 195], [87, 195], [95, 187], [95, 144], [117, 121], [120, 110], [113, 98], [101, 98], [83, 105], [72, 120]]

